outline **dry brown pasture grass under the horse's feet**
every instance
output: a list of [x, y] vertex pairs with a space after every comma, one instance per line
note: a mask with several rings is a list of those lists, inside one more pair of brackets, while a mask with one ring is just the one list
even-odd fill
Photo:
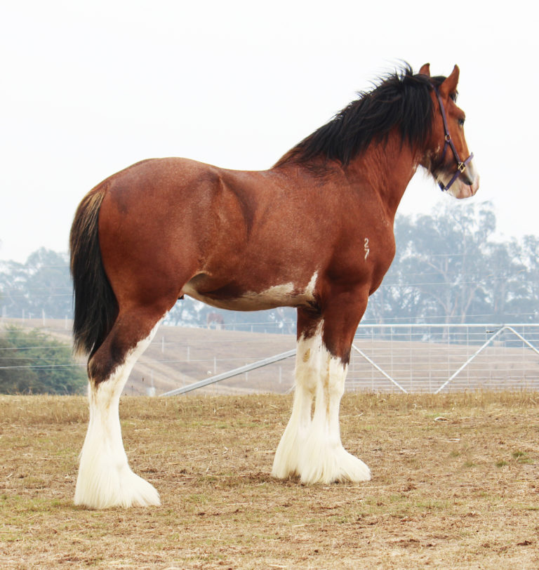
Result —
[[538, 568], [539, 395], [347, 394], [363, 484], [270, 477], [291, 397], [124, 397], [160, 508], [72, 503], [82, 397], [0, 397], [1, 568]]

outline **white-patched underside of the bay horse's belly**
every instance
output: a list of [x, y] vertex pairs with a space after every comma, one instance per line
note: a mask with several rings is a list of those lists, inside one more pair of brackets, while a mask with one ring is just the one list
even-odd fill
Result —
[[314, 306], [314, 286], [317, 273], [314, 273], [307, 286], [298, 287], [293, 282], [273, 285], [262, 291], [234, 291], [230, 286], [214, 291], [204, 291], [197, 283], [189, 281], [183, 292], [203, 303], [232, 311], [260, 311], [275, 307]]

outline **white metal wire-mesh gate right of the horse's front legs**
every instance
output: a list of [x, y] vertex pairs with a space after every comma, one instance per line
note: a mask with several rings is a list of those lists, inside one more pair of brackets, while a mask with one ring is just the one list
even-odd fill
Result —
[[539, 390], [537, 324], [359, 326], [354, 345], [348, 390]]

